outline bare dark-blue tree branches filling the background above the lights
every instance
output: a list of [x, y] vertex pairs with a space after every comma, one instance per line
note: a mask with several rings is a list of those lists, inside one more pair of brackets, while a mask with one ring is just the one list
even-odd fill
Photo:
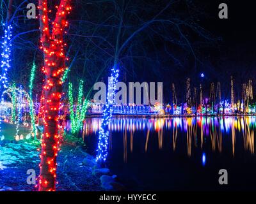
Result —
[[[42, 66], [43, 53], [38, 49], [38, 19], [26, 18], [26, 3], [28, 1], [13, 1], [13, 71], [9, 77], [28, 90], [29, 75], [26, 73], [31, 69], [35, 52], [36, 66]], [[37, 4], [37, 1], [29, 3]], [[190, 77], [191, 87], [198, 87], [201, 72], [205, 72], [207, 95], [211, 82], [220, 81], [223, 92], [229, 91], [230, 87], [224, 84], [226, 78], [233, 75], [238, 98], [243, 82], [252, 74], [253, 45], [244, 45], [245, 35], [237, 33], [240, 26], [244, 31], [247, 25], [241, 25], [239, 17], [232, 13], [230, 19], [233, 21], [216, 19], [218, 2], [81, 0], [74, 1], [73, 5], [75, 12], [70, 16], [68, 33], [64, 36], [70, 45], [67, 48], [70, 58], [67, 82], [78, 87], [79, 80], [85, 79], [88, 99], [92, 96], [89, 92], [92, 85], [101, 80], [106, 82], [107, 73], [115, 64], [120, 66], [120, 80], [124, 82], [164, 82], [166, 103], [170, 101], [173, 82], [177, 97], [183, 100], [186, 79]], [[1, 1], [1, 8], [0, 20], [5, 22], [8, 0]], [[54, 9], [54, 3], [49, 2], [49, 8]], [[233, 31], [238, 35], [234, 34], [230, 40]], [[248, 34], [248, 38], [251, 39], [251, 35], [253, 33]], [[236, 39], [240, 44], [234, 47]], [[44, 76], [40, 70], [35, 80], [34, 97], [41, 94]], [[67, 90], [68, 83], [65, 83], [64, 91]]]

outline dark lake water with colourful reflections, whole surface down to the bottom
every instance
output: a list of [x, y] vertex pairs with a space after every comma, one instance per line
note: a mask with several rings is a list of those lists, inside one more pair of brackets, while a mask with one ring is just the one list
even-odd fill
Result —
[[[94, 155], [100, 122], [84, 122]], [[256, 117], [114, 118], [107, 164], [129, 190], [255, 190], [255, 129]]]

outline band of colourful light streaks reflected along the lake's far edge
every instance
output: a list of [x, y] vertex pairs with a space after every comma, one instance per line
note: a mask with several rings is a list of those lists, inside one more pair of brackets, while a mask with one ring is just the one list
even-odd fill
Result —
[[[97, 135], [101, 124], [100, 118], [86, 119], [83, 126], [83, 137]], [[210, 138], [212, 150], [222, 150], [222, 136], [232, 136], [232, 153], [234, 154], [236, 145], [236, 135], [243, 136], [244, 149], [250, 150], [254, 154], [254, 130], [256, 128], [256, 117], [180, 117], [171, 119], [143, 119], [143, 118], [116, 118], [109, 124], [109, 131], [112, 133], [127, 134], [127, 131], [134, 133], [146, 132], [145, 150], [148, 146], [148, 137], [152, 133], [157, 133], [159, 139], [159, 149], [163, 147], [163, 130], [170, 131], [173, 135], [173, 150], [175, 150], [175, 138], [179, 133], [187, 134], [188, 155], [191, 155], [191, 140], [195, 140], [195, 147], [204, 147], [204, 137]], [[67, 124], [70, 129], [70, 124]], [[199, 138], [200, 137], [200, 138]], [[110, 138], [111, 140], [111, 138]], [[200, 142], [200, 144], [198, 144]], [[111, 145], [111, 143], [110, 143]]]

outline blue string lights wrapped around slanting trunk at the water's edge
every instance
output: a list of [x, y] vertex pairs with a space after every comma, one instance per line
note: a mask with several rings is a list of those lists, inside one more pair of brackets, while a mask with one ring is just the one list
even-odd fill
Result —
[[106, 108], [103, 111], [103, 118], [99, 131], [99, 142], [96, 161], [101, 163], [104, 163], [108, 156], [108, 125], [112, 118], [113, 104], [115, 104], [116, 83], [118, 82], [117, 78], [119, 75], [118, 72], [118, 69], [111, 69], [111, 77], [109, 78], [108, 84], [107, 103]]

